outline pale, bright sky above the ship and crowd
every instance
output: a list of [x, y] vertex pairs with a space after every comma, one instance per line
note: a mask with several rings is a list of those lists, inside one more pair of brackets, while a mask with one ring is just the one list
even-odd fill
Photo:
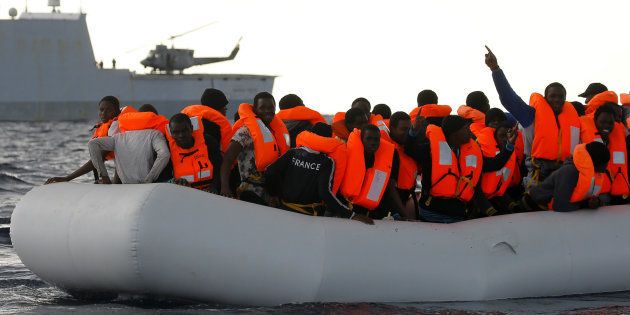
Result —
[[[45, 0], [30, 11], [48, 11]], [[24, 1], [0, 0], [0, 13]], [[433, 89], [456, 108], [482, 90], [500, 105], [483, 57], [490, 46], [525, 99], [552, 82], [579, 100], [590, 82], [628, 92], [630, 1], [366, 0], [62, 0], [86, 12], [96, 60], [145, 70], [139, 61], [168, 36], [217, 24], [175, 40], [196, 56], [222, 56], [240, 36], [234, 61], [188, 70], [274, 74], [274, 95], [300, 95], [324, 113], [356, 97], [409, 111]], [[132, 53], [131, 49], [142, 47]]]

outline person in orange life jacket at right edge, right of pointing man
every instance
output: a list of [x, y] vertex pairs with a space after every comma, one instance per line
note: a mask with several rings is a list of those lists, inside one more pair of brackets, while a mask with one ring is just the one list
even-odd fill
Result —
[[[611, 156], [602, 187], [602, 200], [606, 204], [625, 204], [630, 195], [626, 128], [615, 121], [616, 107], [615, 103], [606, 103], [597, 108], [594, 115], [580, 118], [582, 142], [601, 142], [606, 145]], [[607, 200], [608, 197], [611, 200]]]

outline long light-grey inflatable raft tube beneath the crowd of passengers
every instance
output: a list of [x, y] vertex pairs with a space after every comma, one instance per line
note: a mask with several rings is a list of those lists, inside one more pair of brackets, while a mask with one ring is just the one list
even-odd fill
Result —
[[451, 225], [318, 218], [171, 184], [26, 194], [24, 264], [74, 292], [241, 305], [472, 301], [630, 289], [630, 209]]

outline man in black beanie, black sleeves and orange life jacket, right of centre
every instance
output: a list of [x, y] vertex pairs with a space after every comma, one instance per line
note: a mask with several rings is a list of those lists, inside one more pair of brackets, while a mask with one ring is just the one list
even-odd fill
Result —
[[476, 202], [473, 197], [483, 198], [476, 188], [483, 156], [468, 122], [450, 115], [439, 127], [418, 116], [409, 131], [405, 153], [422, 168], [420, 219], [435, 223], [466, 220], [469, 205]]

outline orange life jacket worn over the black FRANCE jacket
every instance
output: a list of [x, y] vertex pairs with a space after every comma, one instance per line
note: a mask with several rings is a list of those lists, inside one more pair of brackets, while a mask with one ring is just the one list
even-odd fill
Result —
[[322, 137], [310, 131], [302, 131], [295, 139], [295, 145], [298, 148], [303, 146], [324, 153], [333, 159], [335, 162], [335, 172], [331, 191], [333, 194], [337, 194], [341, 186], [341, 181], [346, 173], [346, 163], [348, 160], [346, 144], [335, 138]]

